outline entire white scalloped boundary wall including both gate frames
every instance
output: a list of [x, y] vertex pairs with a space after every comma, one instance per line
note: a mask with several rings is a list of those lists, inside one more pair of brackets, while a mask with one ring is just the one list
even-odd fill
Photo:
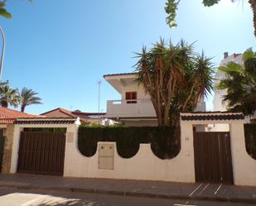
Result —
[[98, 150], [92, 157], [80, 154], [77, 147], [78, 126], [75, 124], [16, 125], [10, 172], [17, 171], [20, 132], [23, 127], [66, 127], [64, 176], [193, 183], [195, 182], [193, 125], [205, 124], [229, 124], [234, 184], [256, 186], [256, 160], [248, 155], [245, 148], [243, 120], [181, 121], [181, 151], [171, 160], [161, 160], [154, 156], [149, 144], [141, 144], [135, 156], [124, 159], [118, 156], [114, 142], [103, 142], [114, 145], [114, 170], [99, 170]]

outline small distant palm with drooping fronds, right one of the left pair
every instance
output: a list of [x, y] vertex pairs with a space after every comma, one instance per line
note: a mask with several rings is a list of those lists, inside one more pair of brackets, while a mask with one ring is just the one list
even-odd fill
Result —
[[24, 113], [25, 108], [28, 105], [41, 104], [41, 98], [36, 97], [37, 94], [38, 93], [34, 92], [32, 89], [27, 89], [27, 88], [22, 89], [22, 92], [19, 93], [19, 98], [20, 98], [19, 103], [21, 104], [22, 113]]

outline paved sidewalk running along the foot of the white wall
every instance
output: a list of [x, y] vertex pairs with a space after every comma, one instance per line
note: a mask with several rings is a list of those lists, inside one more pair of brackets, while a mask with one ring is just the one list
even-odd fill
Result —
[[52, 189], [122, 196], [195, 199], [256, 204], [256, 187], [222, 184], [178, 184], [142, 180], [64, 178], [50, 175], [0, 175], [1, 187]]

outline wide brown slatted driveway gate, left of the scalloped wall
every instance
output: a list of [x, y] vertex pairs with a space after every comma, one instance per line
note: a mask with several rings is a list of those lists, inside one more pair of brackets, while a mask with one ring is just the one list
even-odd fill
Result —
[[17, 172], [63, 175], [65, 132], [21, 132]]

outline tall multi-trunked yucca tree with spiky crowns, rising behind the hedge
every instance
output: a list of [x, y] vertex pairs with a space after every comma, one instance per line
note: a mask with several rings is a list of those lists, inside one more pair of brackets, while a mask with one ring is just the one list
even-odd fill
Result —
[[193, 111], [213, 89], [210, 58], [196, 54], [193, 44], [161, 39], [137, 55], [137, 81], [151, 97], [159, 126], [178, 126], [179, 113]]

